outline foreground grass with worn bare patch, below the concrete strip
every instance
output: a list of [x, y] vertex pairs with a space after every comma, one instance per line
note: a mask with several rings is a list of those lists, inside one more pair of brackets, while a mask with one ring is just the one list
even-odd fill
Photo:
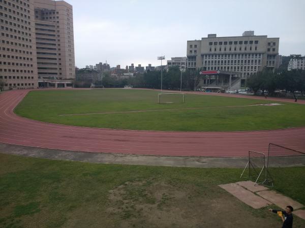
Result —
[[[305, 204], [305, 167], [273, 171], [275, 189]], [[218, 187], [240, 173], [0, 153], [0, 227], [281, 227], [267, 208], [252, 209]], [[294, 216], [293, 227], [305, 221]]]

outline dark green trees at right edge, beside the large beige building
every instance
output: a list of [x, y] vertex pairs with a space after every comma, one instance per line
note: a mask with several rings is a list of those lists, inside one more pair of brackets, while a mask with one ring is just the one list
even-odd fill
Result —
[[282, 72], [273, 72], [272, 70], [264, 69], [250, 76], [246, 81], [247, 87], [255, 93], [259, 90], [267, 90], [269, 94], [275, 95], [275, 91], [283, 90], [293, 93], [299, 91], [303, 96], [305, 91], [305, 70], [284, 70]]

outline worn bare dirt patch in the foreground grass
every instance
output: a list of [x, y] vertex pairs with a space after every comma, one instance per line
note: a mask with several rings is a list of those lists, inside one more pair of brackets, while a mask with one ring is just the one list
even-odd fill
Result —
[[[218, 194], [220, 192], [221, 194]], [[109, 192], [109, 217], [118, 227], [277, 227], [222, 190], [198, 192], [151, 180], [126, 182]]]

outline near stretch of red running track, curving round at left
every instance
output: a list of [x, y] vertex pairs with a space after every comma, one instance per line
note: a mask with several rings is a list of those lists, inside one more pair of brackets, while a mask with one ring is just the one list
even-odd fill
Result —
[[216, 157], [248, 156], [248, 150], [266, 152], [271, 142], [305, 152], [305, 127], [249, 132], [157, 132], [26, 119], [13, 110], [28, 91], [0, 94], [0, 142], [85, 152]]

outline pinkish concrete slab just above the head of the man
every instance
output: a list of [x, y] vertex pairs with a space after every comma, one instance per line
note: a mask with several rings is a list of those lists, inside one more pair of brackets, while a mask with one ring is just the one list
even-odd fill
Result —
[[262, 198], [272, 202], [275, 205], [278, 205], [283, 209], [285, 209], [287, 205], [292, 206], [295, 210], [304, 207], [302, 204], [292, 200], [289, 197], [285, 197], [276, 191], [258, 191], [256, 193]]

